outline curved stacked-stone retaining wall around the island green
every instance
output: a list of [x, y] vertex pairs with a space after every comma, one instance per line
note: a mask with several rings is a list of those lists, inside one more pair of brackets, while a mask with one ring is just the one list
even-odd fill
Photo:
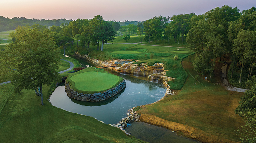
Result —
[[117, 85], [112, 89], [108, 89], [101, 93], [85, 94], [85, 93], [79, 93], [74, 89], [71, 89], [68, 82], [67, 81], [65, 82], [65, 91], [67, 92], [68, 97], [74, 98], [76, 100], [90, 101], [90, 102], [99, 102], [99, 101], [106, 100], [118, 94], [125, 87], [126, 87], [126, 83], [123, 80], [122, 82], [119, 83], [119, 85]]

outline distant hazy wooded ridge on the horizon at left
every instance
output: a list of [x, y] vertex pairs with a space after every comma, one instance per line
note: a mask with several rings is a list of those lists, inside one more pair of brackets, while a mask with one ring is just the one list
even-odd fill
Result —
[[7, 30], [15, 30], [16, 26], [32, 26], [35, 24], [43, 25], [43, 26], [60, 26], [62, 23], [69, 23], [73, 21], [72, 19], [53, 19], [53, 20], [45, 20], [45, 19], [28, 19], [24, 17], [14, 17], [12, 19], [5, 18], [0, 16], [0, 32], [7, 31]]

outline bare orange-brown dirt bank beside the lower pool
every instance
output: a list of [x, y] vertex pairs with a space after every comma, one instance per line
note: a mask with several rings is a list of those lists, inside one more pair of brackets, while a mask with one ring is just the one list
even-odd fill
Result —
[[228, 139], [222, 139], [218, 136], [214, 136], [212, 134], [196, 129], [194, 127], [167, 121], [162, 118], [158, 118], [154, 115], [141, 114], [140, 121], [151, 124], [151, 125], [164, 127], [171, 131], [176, 131], [179, 134], [182, 134], [191, 139], [201, 141], [203, 143], [238, 143]]

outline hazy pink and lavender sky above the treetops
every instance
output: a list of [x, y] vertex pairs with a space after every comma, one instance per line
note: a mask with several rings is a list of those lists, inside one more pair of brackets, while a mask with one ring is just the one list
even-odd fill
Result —
[[29, 19], [92, 19], [144, 21], [155, 16], [204, 14], [229, 5], [240, 12], [256, 7], [256, 0], [1, 0], [0, 16]]

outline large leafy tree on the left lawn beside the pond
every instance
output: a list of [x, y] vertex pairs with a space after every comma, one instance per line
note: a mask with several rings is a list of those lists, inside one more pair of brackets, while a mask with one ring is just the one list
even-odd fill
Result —
[[60, 51], [47, 31], [18, 27], [11, 37], [15, 40], [0, 51], [0, 79], [11, 77], [16, 92], [35, 90], [44, 105], [42, 85], [59, 79]]

